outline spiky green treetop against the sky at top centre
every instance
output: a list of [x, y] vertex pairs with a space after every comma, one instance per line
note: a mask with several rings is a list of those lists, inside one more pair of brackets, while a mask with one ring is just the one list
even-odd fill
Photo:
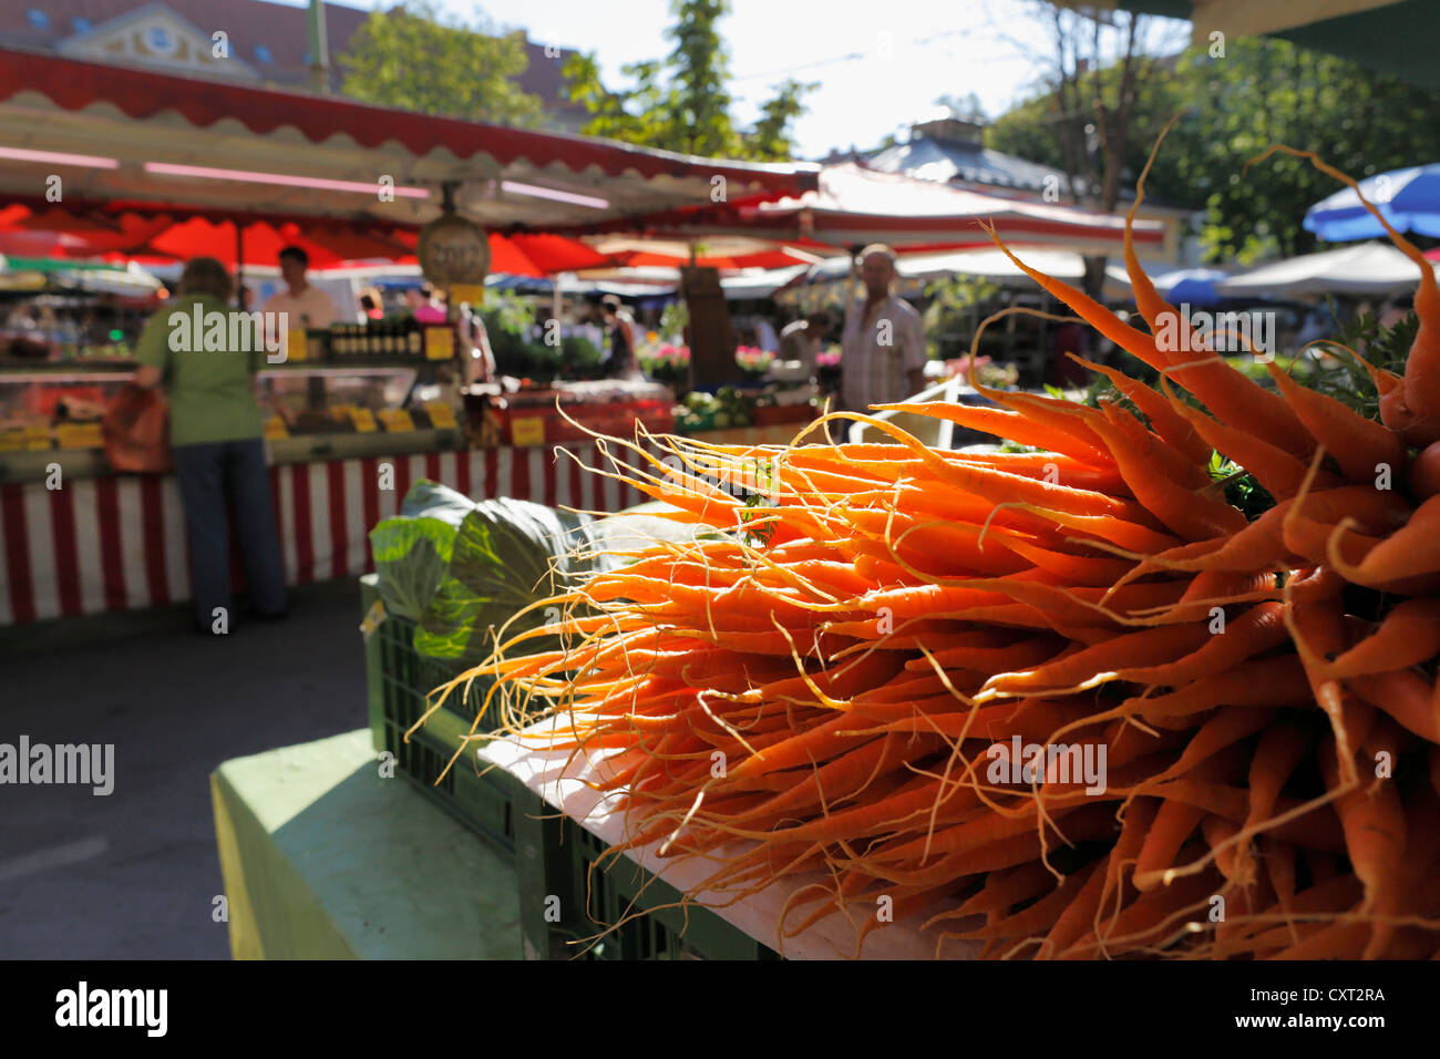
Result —
[[590, 112], [583, 131], [684, 154], [788, 160], [791, 124], [805, 110], [805, 92], [816, 85], [795, 79], [776, 85], [755, 128], [739, 130], [730, 115], [729, 49], [717, 26], [729, 10], [729, 0], [671, 0], [674, 22], [665, 39], [674, 48], [664, 59], [621, 68], [634, 82], [629, 89], [606, 91], [595, 55], [573, 56], [564, 75], [570, 97]]

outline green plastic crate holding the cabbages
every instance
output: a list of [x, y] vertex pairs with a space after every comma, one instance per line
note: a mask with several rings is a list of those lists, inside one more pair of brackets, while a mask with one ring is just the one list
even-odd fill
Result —
[[[360, 579], [360, 598], [364, 614], [380, 598], [373, 573]], [[510, 790], [491, 775], [478, 774], [474, 752], [462, 755], [445, 778], [435, 782], [455, 749], [469, 735], [490, 682], [477, 680], [464, 699], [458, 692], [452, 693], [445, 706], [406, 741], [406, 730], [425, 713], [429, 692], [464, 670], [462, 666], [418, 654], [413, 637], [415, 622], [392, 615], [366, 641], [366, 683], [374, 748], [393, 754], [396, 771], [409, 778], [425, 797], [513, 853], [516, 828]], [[477, 730], [487, 730], [485, 723], [481, 722]]]

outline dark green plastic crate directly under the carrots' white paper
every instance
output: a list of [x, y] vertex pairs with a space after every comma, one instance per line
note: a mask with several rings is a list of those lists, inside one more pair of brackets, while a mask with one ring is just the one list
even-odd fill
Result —
[[[504, 781], [514, 805], [520, 929], [528, 960], [779, 960], [775, 949], [707, 908], [661, 908], [677, 903], [680, 892], [626, 857], [609, 857], [590, 875], [605, 843], [518, 779], [505, 774]], [[570, 944], [639, 912], [593, 945]]]

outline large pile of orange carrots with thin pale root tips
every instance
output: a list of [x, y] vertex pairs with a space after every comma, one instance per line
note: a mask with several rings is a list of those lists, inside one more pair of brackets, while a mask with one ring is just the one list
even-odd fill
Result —
[[[537, 604], [572, 608], [566, 648], [516, 653], [550, 625], [468, 676], [513, 730], [559, 715], [609, 752], [616, 853], [706, 859], [736, 899], [802, 880], [780, 947], [845, 915], [857, 951], [922, 916], [942, 954], [1440, 955], [1440, 499], [1410, 474], [1440, 442], [1440, 291], [1391, 238], [1420, 331], [1403, 377], [1371, 369], [1382, 422], [1159, 349], [1175, 310], [1129, 225], [1148, 330], [1011, 255], [1159, 385], [1089, 365], [1126, 403], [893, 406], [1028, 452], [871, 416], [886, 444], [649, 438], [684, 471], [636, 444], [654, 473], [615, 474], [714, 533]], [[1274, 506], [1233, 507], [1217, 451]], [[762, 458], [765, 506], [706, 484]]]

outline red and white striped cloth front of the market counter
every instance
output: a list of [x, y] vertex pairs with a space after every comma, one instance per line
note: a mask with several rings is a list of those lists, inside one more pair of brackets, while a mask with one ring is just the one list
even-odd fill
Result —
[[[300, 441], [307, 439], [285, 444]], [[556, 448], [575, 458], [557, 458]], [[629, 467], [644, 463], [629, 450], [612, 445], [611, 451]], [[285, 584], [373, 571], [369, 530], [397, 514], [410, 483], [422, 477], [477, 500], [514, 497], [588, 511], [619, 511], [648, 500], [632, 486], [585, 471], [582, 463], [603, 464], [593, 442], [425, 452], [400, 445], [384, 455], [276, 463], [269, 475]], [[184, 516], [173, 475], [62, 475], [60, 488], [48, 484], [0, 484], [0, 625], [190, 598]], [[238, 549], [230, 559], [238, 581]]]

